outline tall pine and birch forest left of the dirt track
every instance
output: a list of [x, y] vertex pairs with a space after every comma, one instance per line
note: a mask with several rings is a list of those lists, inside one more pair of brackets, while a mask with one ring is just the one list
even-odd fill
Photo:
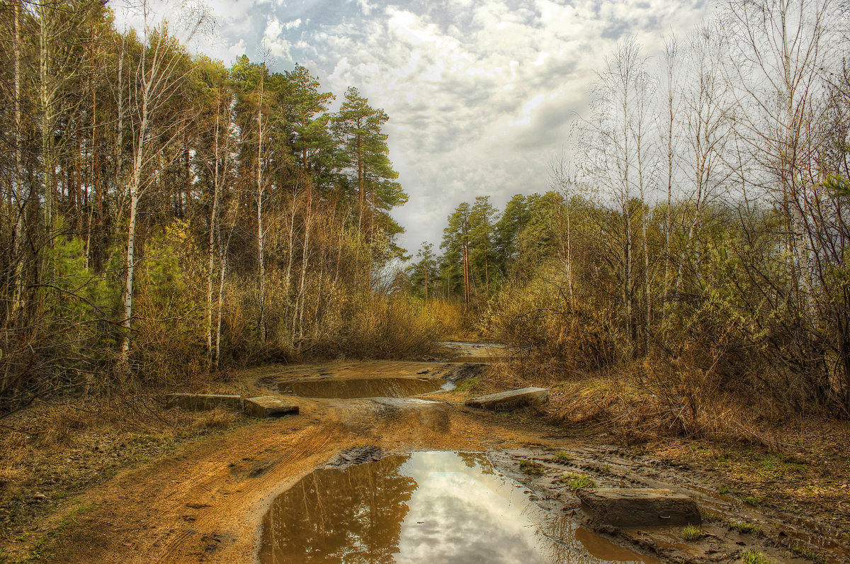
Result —
[[3, 3], [0, 413], [433, 341], [381, 277], [407, 199], [387, 114], [357, 88], [329, 111], [303, 66], [193, 58], [193, 6], [119, 32], [99, 1]]

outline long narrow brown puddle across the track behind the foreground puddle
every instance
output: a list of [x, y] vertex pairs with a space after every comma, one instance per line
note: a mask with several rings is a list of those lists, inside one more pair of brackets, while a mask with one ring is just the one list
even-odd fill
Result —
[[[281, 394], [300, 397], [406, 397], [419, 396], [437, 390], [447, 390], [450, 385], [437, 378], [353, 378], [301, 380], [281, 383]], [[450, 385], [451, 388], [454, 385]]]

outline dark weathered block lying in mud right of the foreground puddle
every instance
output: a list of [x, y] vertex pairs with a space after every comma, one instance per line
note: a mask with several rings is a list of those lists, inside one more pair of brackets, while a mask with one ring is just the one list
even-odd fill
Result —
[[693, 499], [667, 489], [599, 488], [576, 493], [594, 525], [684, 527], [702, 523]]

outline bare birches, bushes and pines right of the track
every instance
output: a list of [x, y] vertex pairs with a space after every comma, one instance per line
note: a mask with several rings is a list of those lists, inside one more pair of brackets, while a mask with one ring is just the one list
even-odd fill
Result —
[[660, 60], [622, 41], [552, 191], [463, 203], [411, 288], [570, 373], [662, 383], [677, 417], [726, 394], [850, 417], [846, 24], [830, 0], [732, 0]]

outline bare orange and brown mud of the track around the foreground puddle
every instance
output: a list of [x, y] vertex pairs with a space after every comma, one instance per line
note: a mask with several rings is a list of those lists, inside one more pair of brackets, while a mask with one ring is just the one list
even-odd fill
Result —
[[[462, 355], [490, 354], [467, 349]], [[281, 382], [299, 379], [455, 379], [473, 372], [473, 366], [457, 363], [331, 362], [265, 367], [241, 378], [248, 390], [275, 393]], [[805, 561], [791, 545], [798, 553], [814, 549], [810, 558], [850, 558], [846, 527], [842, 533], [840, 526], [804, 516], [794, 521], [746, 508], [717, 493], [707, 470], [662, 464], [618, 447], [580, 441], [544, 424], [536, 413], [506, 416], [472, 410], [462, 407], [464, 398], [445, 391], [421, 399], [291, 398], [301, 407], [296, 417], [270, 419], [186, 444], [68, 500], [38, 527], [56, 538], [49, 561], [255, 561], [259, 526], [272, 500], [339, 451], [365, 445], [380, 447], [383, 453], [488, 452], [501, 471], [524, 483], [545, 508], [573, 511], [576, 519], [581, 515], [570, 476], [585, 475], [602, 486], [669, 487], [689, 493], [708, 517], [705, 535], [698, 541], [686, 543], [680, 530], [672, 528], [599, 531], [661, 561], [734, 561], [749, 549], [773, 561]], [[540, 464], [541, 474], [524, 473], [519, 467], [523, 461]], [[735, 527], [742, 522], [757, 523], [760, 531], [740, 533]]]

